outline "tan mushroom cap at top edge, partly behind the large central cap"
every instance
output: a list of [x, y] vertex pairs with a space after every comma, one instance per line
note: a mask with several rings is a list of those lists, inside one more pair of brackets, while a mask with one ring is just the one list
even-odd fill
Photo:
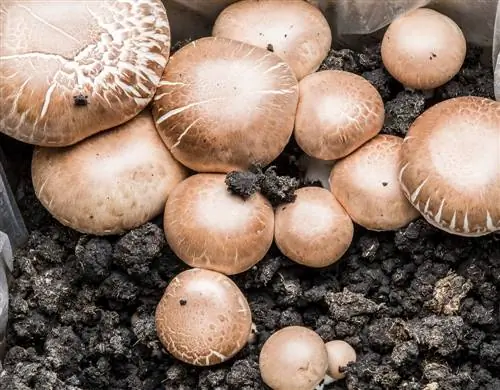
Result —
[[323, 13], [303, 0], [242, 0], [226, 7], [212, 35], [272, 50], [298, 80], [315, 72], [332, 45]]

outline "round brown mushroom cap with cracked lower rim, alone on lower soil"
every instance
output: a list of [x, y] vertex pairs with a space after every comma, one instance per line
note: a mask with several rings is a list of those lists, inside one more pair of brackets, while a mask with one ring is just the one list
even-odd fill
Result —
[[247, 344], [252, 313], [231, 279], [194, 268], [169, 283], [155, 323], [161, 343], [176, 359], [210, 366], [230, 359]]

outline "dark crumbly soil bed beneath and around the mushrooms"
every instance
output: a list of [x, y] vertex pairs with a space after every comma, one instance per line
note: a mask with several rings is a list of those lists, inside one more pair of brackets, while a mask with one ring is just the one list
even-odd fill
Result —
[[[378, 46], [332, 51], [323, 68], [362, 74], [378, 88], [384, 133], [404, 136], [442, 99], [493, 98], [493, 72], [480, 65], [478, 50], [469, 50], [463, 70], [433, 98], [401, 88], [378, 53]], [[225, 364], [194, 368], [171, 358], [155, 334], [155, 305], [186, 269], [166, 246], [161, 219], [123, 237], [65, 228], [33, 194], [31, 148], [1, 141], [21, 172], [15, 190], [30, 231], [15, 258], [1, 390], [265, 389], [262, 344], [297, 324], [358, 352], [347, 378], [328, 389], [500, 389], [498, 234], [452, 236], [422, 219], [397, 232], [358, 227], [343, 259], [322, 270], [295, 265], [272, 248], [233, 277], [252, 308], [256, 343]], [[277, 174], [301, 178], [299, 155], [291, 143], [276, 161]]]

